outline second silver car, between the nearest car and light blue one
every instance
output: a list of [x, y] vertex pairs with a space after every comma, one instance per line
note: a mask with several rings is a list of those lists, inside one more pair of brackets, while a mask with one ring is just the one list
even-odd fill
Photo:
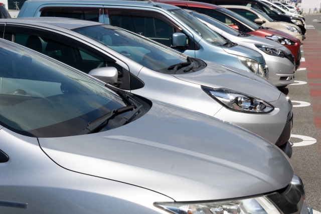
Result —
[[[9, 41], [120, 89], [239, 125], [291, 156], [292, 105], [275, 86], [255, 74], [188, 57], [98, 22], [47, 17], [0, 20], [0, 25], [5, 23], [4, 38]], [[105, 73], [115, 79], [106, 80], [101, 75]]]

